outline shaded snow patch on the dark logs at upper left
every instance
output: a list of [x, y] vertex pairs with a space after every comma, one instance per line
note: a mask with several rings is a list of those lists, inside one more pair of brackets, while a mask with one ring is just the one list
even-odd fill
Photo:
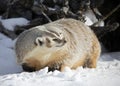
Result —
[[1, 19], [0, 21], [2, 22], [2, 25], [11, 31], [14, 31], [15, 26], [23, 26], [27, 25], [29, 21], [25, 18], [9, 18], [9, 19]]

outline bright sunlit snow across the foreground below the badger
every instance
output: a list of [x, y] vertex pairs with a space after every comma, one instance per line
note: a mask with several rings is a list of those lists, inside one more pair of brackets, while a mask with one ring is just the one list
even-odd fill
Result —
[[96, 69], [40, 71], [0, 76], [0, 86], [120, 86], [120, 61], [98, 62]]

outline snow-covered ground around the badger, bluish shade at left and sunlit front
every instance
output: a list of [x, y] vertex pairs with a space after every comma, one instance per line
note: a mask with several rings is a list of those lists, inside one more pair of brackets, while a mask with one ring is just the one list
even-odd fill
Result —
[[120, 52], [102, 54], [96, 69], [28, 73], [16, 63], [14, 43], [0, 33], [0, 86], [120, 86]]

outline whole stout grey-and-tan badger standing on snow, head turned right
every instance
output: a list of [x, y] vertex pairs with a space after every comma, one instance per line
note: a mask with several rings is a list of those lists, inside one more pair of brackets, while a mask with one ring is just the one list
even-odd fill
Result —
[[101, 48], [93, 31], [74, 19], [60, 19], [24, 31], [16, 41], [17, 61], [25, 71], [66, 66], [95, 68]]

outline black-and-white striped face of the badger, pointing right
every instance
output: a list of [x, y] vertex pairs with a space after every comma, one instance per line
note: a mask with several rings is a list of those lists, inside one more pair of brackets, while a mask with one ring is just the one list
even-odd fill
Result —
[[35, 40], [35, 43], [39, 46], [46, 46], [48, 48], [62, 47], [66, 43], [61, 30], [58, 31], [55, 27], [46, 29], [45, 26], [38, 26], [36, 28], [43, 33], [41, 37], [37, 37]]

